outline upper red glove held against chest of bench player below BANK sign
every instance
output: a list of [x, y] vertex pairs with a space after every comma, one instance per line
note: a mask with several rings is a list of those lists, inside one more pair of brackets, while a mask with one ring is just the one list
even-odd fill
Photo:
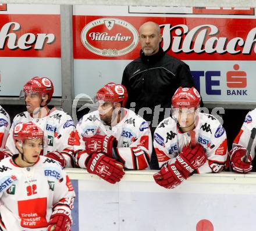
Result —
[[192, 149], [184, 146], [182, 153], [176, 157], [175, 165], [183, 171], [187, 177], [197, 168], [201, 167], [207, 161], [204, 148], [197, 143]]

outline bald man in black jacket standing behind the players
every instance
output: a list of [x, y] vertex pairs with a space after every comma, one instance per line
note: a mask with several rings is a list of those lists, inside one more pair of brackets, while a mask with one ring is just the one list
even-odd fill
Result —
[[[128, 92], [126, 107], [134, 107], [135, 102], [136, 113], [150, 123], [154, 134], [158, 122], [164, 118], [165, 109], [171, 107], [176, 89], [179, 86], [191, 88], [194, 81], [186, 63], [163, 52], [160, 46], [162, 34], [157, 23], [147, 21], [141, 25], [139, 35], [140, 57], [126, 66], [122, 84]], [[165, 117], [169, 116], [167, 110]], [[155, 153], [152, 153], [150, 167], [159, 169]]]

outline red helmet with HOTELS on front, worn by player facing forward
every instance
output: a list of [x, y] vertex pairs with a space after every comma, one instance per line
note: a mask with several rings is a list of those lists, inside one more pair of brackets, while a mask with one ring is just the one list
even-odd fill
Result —
[[181, 86], [172, 96], [172, 107], [195, 107], [200, 105], [200, 94], [195, 88], [182, 88]]

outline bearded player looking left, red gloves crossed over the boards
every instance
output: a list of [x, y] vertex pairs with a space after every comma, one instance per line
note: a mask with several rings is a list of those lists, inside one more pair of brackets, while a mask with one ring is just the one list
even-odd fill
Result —
[[[152, 151], [148, 124], [133, 111], [125, 109], [125, 86], [109, 83], [96, 95], [98, 110], [77, 124], [81, 149], [76, 164], [110, 183], [120, 181], [126, 169], [148, 168]], [[84, 146], [85, 144], [85, 146]]]

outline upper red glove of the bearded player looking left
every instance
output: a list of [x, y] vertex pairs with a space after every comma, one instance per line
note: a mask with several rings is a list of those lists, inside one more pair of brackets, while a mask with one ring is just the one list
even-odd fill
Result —
[[113, 147], [118, 146], [118, 140], [114, 136], [94, 135], [92, 137], [84, 137], [86, 143], [86, 152], [88, 154], [103, 153], [113, 158]]

